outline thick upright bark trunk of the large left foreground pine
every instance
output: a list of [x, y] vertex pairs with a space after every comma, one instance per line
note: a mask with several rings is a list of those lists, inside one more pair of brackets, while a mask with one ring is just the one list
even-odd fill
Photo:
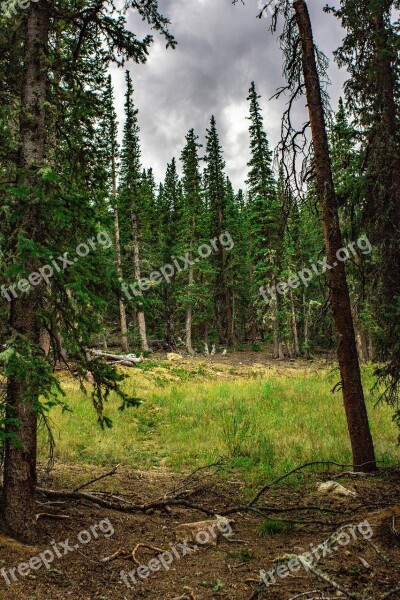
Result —
[[[20, 134], [21, 150], [19, 166], [33, 173], [45, 157], [45, 101], [48, 85], [48, 36], [49, 13], [45, 0], [31, 3], [27, 9], [24, 77], [21, 97]], [[39, 177], [26, 175], [26, 188], [31, 197], [24, 201], [20, 210], [20, 232], [28, 239], [38, 237], [40, 216], [35, 196]], [[34, 270], [26, 264], [26, 272]], [[10, 325], [13, 331], [24, 336], [39, 348], [40, 330], [37, 322], [41, 290], [36, 288], [28, 295], [12, 301]], [[37, 374], [29, 368], [23, 376], [12, 375], [7, 382], [6, 432], [18, 438], [18, 444], [6, 440], [4, 458], [4, 519], [9, 533], [17, 539], [32, 543], [36, 529], [36, 450], [37, 405], [39, 384]]]

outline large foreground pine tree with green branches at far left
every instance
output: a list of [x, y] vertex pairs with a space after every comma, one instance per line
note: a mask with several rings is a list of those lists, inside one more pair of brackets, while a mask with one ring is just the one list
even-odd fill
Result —
[[[75, 251], [107, 220], [107, 169], [96, 148], [102, 112], [98, 90], [110, 61], [145, 62], [152, 38], [138, 40], [126, 28], [128, 5], [113, 17], [111, 2], [81, 4], [31, 3], [14, 37], [20, 54], [7, 88], [20, 98], [14, 105], [19, 130], [13, 131], [19, 152], [10, 154], [13, 190], [3, 197], [7, 227], [13, 232], [3, 245], [6, 280], [51, 264], [60, 248]], [[138, 3], [137, 8], [174, 46], [157, 2]], [[1, 36], [3, 31], [2, 21]], [[8, 377], [3, 512], [8, 531], [26, 542], [35, 538], [37, 421], [45, 421], [59, 387], [53, 369], [60, 358], [60, 335], [81, 381], [88, 371], [93, 375], [92, 399], [103, 426], [110, 423], [103, 408], [111, 390], [120, 393], [125, 406], [129, 401], [115, 369], [88, 353], [104, 311], [98, 291], [109, 284], [110, 272], [102, 271], [108, 261], [102, 255], [97, 252], [96, 260], [87, 256], [69, 271], [55, 272], [48, 285], [42, 282], [10, 302], [7, 350], [1, 357]], [[40, 344], [44, 330], [52, 341], [51, 356]]]

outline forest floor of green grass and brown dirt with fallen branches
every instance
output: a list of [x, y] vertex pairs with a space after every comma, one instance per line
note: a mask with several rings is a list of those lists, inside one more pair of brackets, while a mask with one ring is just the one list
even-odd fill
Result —
[[[370, 373], [364, 376], [368, 379]], [[135, 380], [134, 389], [144, 400], [142, 407], [135, 409], [135, 415], [121, 414], [111, 400], [114, 428], [105, 432], [105, 437], [99, 437], [87, 422], [86, 418], [92, 417], [88, 408], [88, 413], [79, 413], [83, 399], [75, 384], [61, 374], [63, 377], [75, 416], [60, 411], [53, 418], [59, 429], [58, 449], [50, 472], [43, 454], [39, 468], [43, 488], [74, 490], [122, 463], [115, 474], [83, 491], [108, 500], [123, 498], [125, 506], [128, 502], [137, 505], [176, 498], [178, 491], [178, 499], [221, 514], [248, 503], [264, 484], [308, 459], [345, 462], [347, 457], [346, 432], [341, 431], [344, 423], [335, 417], [336, 411], [339, 414], [343, 409], [339, 395], [330, 393], [337, 373], [332, 375], [331, 365], [325, 361], [277, 363], [259, 353], [169, 364], [165, 356], [152, 357], [135, 370], [129, 382], [133, 385], [131, 380]], [[233, 406], [239, 406], [239, 420], [235, 419], [232, 396]], [[215, 413], [217, 401], [221, 407]], [[265, 422], [261, 421], [262, 412], [257, 412], [260, 404], [261, 411], [268, 413]], [[301, 421], [302, 412], [312, 409], [315, 419]], [[139, 416], [141, 411], [144, 414]], [[228, 425], [224, 427], [226, 418]], [[255, 418], [259, 429], [268, 429], [267, 437], [257, 437], [259, 431], [251, 428]], [[295, 422], [298, 420], [300, 425]], [[350, 475], [347, 467], [306, 468], [268, 488], [257, 502], [259, 513], [235, 512], [233, 539], [222, 536], [217, 545], [191, 545], [190, 552], [179, 545], [175, 529], [182, 523], [210, 518], [194, 508], [172, 503], [127, 513], [82, 499], [53, 498], [50, 502], [40, 494], [37, 545], [27, 547], [0, 537], [0, 600], [400, 599], [400, 511], [391, 508], [399, 505], [400, 468], [390, 466], [398, 462], [398, 449], [391, 448], [396, 432], [386, 408], [373, 414], [372, 421], [383, 463], [378, 473], [362, 477]], [[181, 436], [182, 424], [191, 431], [191, 437]], [[322, 441], [310, 444], [318, 431]], [[243, 436], [245, 443], [241, 445]], [[281, 439], [285, 436], [289, 444]], [[126, 448], [129, 443], [131, 447]], [[258, 448], [265, 445], [267, 452]], [[280, 456], [282, 452], [287, 456]], [[153, 461], [152, 453], [156, 455]], [[139, 462], [144, 464], [141, 469], [137, 468]], [[211, 462], [218, 464], [196, 471]], [[356, 495], [320, 495], [317, 484], [331, 479]], [[301, 563], [296, 570], [281, 569], [283, 576], [278, 576], [276, 570], [289, 564], [290, 555], [313, 550], [348, 524], [359, 528], [345, 528], [341, 538], [331, 540], [314, 554], [311, 566], [329, 581]], [[135, 556], [141, 565], [148, 565], [160, 551], [170, 552], [172, 559], [166, 559], [167, 568], [159, 565], [157, 571], [144, 570], [148, 577], [143, 579], [135, 573], [136, 583], [128, 578], [129, 588], [121, 571], [128, 573], [138, 567], [132, 557], [103, 559], [121, 549], [131, 552], [137, 544], [154, 547], [137, 550]], [[70, 549], [65, 556], [62, 548]], [[49, 568], [31, 568], [27, 574], [28, 567], [20, 566], [41, 555], [49, 560], [53, 555]], [[19, 566], [25, 576], [15, 570]], [[14, 576], [10, 569], [14, 569]], [[269, 577], [271, 584], [255, 595], [260, 571], [272, 569], [274, 580]]]

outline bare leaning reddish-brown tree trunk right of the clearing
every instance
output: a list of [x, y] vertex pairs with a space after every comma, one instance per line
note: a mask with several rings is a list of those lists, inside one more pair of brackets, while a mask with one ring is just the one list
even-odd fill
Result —
[[334, 265], [329, 273], [333, 317], [339, 335], [337, 353], [344, 407], [354, 467], [357, 467], [357, 470], [368, 472], [376, 469], [375, 453], [361, 383], [346, 271], [344, 263], [338, 261], [336, 257], [337, 251], [343, 247], [343, 240], [333, 184], [311, 21], [304, 0], [297, 0], [293, 7], [301, 41], [302, 67], [311, 122], [317, 189], [323, 214], [325, 246], [328, 262]]

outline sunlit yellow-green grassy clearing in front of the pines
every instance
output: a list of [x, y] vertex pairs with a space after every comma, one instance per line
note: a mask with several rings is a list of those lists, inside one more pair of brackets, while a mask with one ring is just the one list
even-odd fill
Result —
[[[134, 371], [125, 388], [144, 402], [121, 413], [111, 398], [107, 414], [114, 426], [106, 431], [99, 429], [90, 399], [66, 380], [73, 412], [55, 408], [50, 415], [56, 458], [177, 470], [226, 458], [251, 484], [307, 461], [351, 462], [341, 394], [330, 391], [337, 374], [249, 369], [241, 375], [165, 363]], [[369, 369], [364, 381], [367, 390], [373, 383]], [[368, 407], [378, 459], [398, 462], [391, 410], [374, 408], [371, 397]], [[41, 434], [43, 457], [44, 440]]]

